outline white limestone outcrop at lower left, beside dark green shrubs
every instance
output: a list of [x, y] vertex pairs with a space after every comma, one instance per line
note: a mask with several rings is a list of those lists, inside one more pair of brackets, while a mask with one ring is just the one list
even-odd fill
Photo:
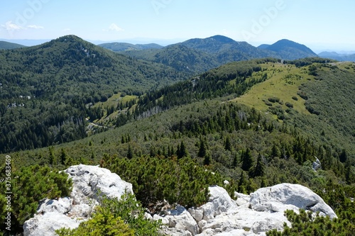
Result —
[[80, 164], [64, 172], [73, 183], [70, 197], [43, 199], [38, 214], [23, 224], [24, 236], [54, 236], [61, 227], [78, 227], [98, 204], [99, 194], [121, 198], [125, 192], [133, 193], [132, 184], [108, 169]]

